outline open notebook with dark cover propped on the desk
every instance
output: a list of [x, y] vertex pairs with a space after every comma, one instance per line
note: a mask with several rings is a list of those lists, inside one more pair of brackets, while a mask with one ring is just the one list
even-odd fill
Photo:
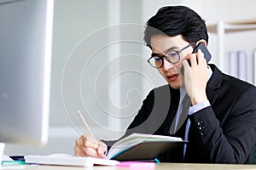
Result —
[[177, 157], [182, 156], [185, 143], [183, 139], [172, 136], [132, 133], [113, 144], [108, 150], [108, 158], [118, 161], [154, 160], [167, 151]]

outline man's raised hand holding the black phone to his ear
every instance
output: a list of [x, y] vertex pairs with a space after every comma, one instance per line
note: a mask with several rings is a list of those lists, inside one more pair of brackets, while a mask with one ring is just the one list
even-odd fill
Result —
[[[187, 59], [189, 59], [191, 66]], [[207, 100], [206, 88], [208, 80], [207, 61], [201, 49], [196, 54], [188, 54], [183, 60], [184, 86], [192, 105]]]

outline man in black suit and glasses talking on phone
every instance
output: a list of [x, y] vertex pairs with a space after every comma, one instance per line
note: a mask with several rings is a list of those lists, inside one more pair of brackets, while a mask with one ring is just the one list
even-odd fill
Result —
[[[187, 7], [160, 8], [148, 20], [144, 40], [152, 50], [148, 62], [168, 85], [148, 94], [127, 134], [189, 140], [183, 159], [176, 160], [180, 162], [245, 163], [256, 143], [256, 88], [207, 65], [201, 50], [192, 54], [200, 42], [207, 46], [205, 21]], [[186, 98], [189, 102], [183, 104]], [[150, 119], [159, 121], [155, 126]], [[106, 144], [86, 135], [76, 140], [76, 156], [104, 157], [106, 150]], [[160, 161], [172, 161], [171, 154]]]

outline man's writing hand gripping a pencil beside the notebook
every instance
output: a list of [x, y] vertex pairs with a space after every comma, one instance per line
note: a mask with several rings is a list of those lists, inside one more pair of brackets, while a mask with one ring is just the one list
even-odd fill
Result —
[[76, 145], [74, 147], [75, 156], [91, 156], [104, 158], [105, 153], [108, 150], [107, 144], [102, 141], [94, 139], [89, 135], [82, 135], [79, 139], [76, 139]]

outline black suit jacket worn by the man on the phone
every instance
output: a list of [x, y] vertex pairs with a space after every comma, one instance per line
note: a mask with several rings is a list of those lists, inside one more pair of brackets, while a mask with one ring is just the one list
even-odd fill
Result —
[[[210, 66], [207, 98], [211, 106], [189, 116], [189, 144], [184, 159], [173, 160], [176, 153], [166, 153], [160, 161], [244, 163], [256, 143], [256, 88]], [[179, 89], [169, 85], [154, 88], [126, 135], [136, 132], [183, 138], [185, 122], [177, 133], [170, 132], [178, 102]]]

